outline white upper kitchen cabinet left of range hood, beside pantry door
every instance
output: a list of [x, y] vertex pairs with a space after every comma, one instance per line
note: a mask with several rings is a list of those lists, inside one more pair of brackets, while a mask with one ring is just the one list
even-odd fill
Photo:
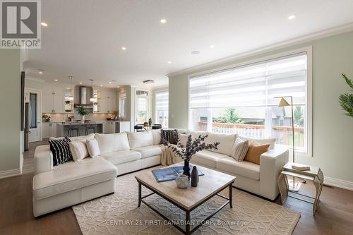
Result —
[[43, 86], [43, 113], [64, 113], [64, 88], [56, 85]]

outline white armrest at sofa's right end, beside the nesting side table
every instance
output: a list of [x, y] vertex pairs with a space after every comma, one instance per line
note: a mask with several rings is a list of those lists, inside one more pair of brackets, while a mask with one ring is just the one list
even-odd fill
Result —
[[278, 193], [277, 179], [282, 167], [288, 162], [287, 147], [275, 145], [273, 150], [260, 156], [260, 185], [261, 194], [274, 200]]

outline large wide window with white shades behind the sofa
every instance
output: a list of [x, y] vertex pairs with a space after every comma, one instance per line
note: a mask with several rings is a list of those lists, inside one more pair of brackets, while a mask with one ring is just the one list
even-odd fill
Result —
[[[308, 52], [229, 68], [189, 80], [189, 128], [195, 131], [273, 137], [309, 152]], [[290, 107], [277, 107], [292, 96]], [[290, 102], [290, 99], [288, 100]]]

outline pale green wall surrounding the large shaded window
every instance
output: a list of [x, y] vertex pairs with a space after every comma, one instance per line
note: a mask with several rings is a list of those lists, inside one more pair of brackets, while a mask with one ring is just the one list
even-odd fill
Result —
[[[228, 61], [201, 71], [307, 46], [313, 48], [313, 157], [297, 157], [297, 162], [321, 167], [325, 176], [353, 182], [353, 119], [343, 115], [337, 102], [338, 96], [349, 90], [340, 74], [346, 73], [353, 79], [353, 32]], [[169, 126], [172, 128], [188, 127], [188, 76], [169, 78]]]

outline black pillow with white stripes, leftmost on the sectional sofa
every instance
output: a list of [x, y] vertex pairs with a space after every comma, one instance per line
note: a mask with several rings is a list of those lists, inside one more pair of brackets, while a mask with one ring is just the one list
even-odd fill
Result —
[[70, 147], [68, 143], [71, 140], [66, 136], [61, 140], [49, 140], [50, 150], [53, 153], [53, 165], [57, 166], [72, 160]]

